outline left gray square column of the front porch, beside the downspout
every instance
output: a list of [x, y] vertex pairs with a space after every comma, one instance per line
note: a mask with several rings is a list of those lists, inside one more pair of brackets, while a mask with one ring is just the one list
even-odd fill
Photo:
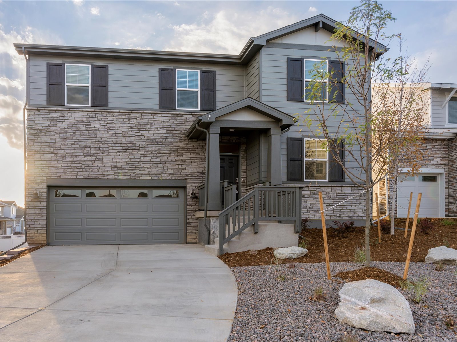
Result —
[[210, 127], [208, 146], [208, 210], [221, 210], [221, 171], [219, 156], [219, 128]]

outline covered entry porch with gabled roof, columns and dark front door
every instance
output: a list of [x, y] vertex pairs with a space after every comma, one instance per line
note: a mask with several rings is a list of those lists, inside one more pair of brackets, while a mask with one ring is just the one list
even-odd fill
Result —
[[282, 185], [281, 133], [293, 124], [291, 115], [252, 98], [198, 117], [186, 137], [207, 140], [199, 209], [206, 194], [207, 211], [221, 211], [256, 185]]

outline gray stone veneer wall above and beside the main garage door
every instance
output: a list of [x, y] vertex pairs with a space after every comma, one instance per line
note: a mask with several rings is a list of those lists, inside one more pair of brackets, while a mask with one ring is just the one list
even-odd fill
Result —
[[[105, 109], [27, 110], [27, 241], [46, 243], [46, 178], [185, 179], [187, 242], [196, 243], [205, 141], [185, 133], [197, 113]], [[40, 200], [31, 201], [37, 189]]]

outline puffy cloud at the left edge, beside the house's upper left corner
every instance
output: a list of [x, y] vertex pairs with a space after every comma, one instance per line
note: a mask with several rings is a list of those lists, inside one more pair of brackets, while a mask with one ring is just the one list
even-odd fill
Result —
[[23, 106], [24, 103], [14, 96], [0, 94], [0, 135], [3, 135], [8, 145], [15, 149], [21, 149], [23, 145]]

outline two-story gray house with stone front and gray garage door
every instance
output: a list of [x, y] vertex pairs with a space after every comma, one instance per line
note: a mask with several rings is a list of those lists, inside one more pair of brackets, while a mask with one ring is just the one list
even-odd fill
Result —
[[[233, 201], [257, 185], [278, 189], [271, 201], [303, 187], [285, 204], [298, 219], [320, 218], [318, 191], [328, 207], [359, 193], [294, 122], [311, 108], [307, 71], [323, 59], [345, 71], [329, 43], [335, 24], [314, 16], [250, 38], [239, 55], [15, 44], [27, 56], [28, 242], [204, 243], [206, 187], [213, 217], [230, 184]], [[364, 200], [326, 216], [362, 223]]]

